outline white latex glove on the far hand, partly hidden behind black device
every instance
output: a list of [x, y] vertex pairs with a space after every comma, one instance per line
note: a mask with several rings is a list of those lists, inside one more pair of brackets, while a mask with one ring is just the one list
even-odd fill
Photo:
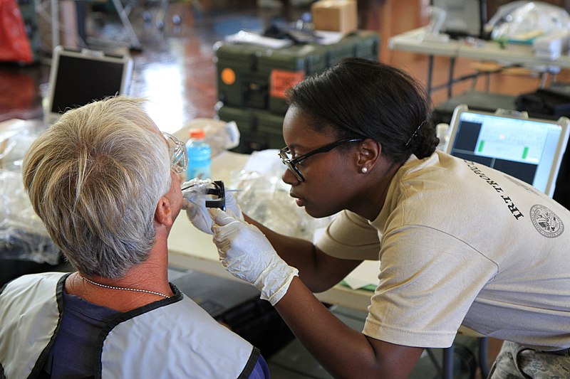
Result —
[[[212, 234], [212, 216], [206, 208], [206, 200], [209, 195], [208, 188], [214, 186], [211, 179], [193, 178], [191, 181], [182, 183], [182, 209], [186, 210], [186, 215], [192, 225], [207, 234]], [[226, 210], [239, 220], [243, 220], [242, 210], [237, 205], [236, 198], [231, 192], [226, 191]]]

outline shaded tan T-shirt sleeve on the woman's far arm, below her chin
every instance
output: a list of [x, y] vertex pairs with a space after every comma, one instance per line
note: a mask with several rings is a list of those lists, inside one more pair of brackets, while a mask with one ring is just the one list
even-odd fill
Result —
[[368, 220], [343, 210], [328, 225], [316, 246], [332, 257], [349, 260], [378, 260], [380, 237]]

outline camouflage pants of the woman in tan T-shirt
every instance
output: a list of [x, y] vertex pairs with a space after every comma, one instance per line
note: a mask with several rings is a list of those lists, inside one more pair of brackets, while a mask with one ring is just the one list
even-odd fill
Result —
[[570, 378], [570, 356], [535, 351], [505, 341], [489, 373], [489, 379], [499, 378]]

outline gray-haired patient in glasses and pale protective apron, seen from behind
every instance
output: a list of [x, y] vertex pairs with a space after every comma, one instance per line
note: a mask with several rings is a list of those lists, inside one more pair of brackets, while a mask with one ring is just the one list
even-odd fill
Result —
[[70, 110], [28, 150], [24, 187], [77, 271], [1, 290], [1, 378], [269, 377], [257, 348], [168, 282], [187, 156], [142, 102]]

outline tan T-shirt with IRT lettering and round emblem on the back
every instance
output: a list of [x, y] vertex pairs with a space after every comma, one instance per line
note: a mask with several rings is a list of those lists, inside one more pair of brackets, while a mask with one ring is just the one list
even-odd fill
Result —
[[363, 333], [450, 346], [461, 324], [525, 346], [570, 346], [570, 213], [482, 164], [412, 156], [378, 218], [341, 213], [318, 241], [334, 257], [380, 260]]

